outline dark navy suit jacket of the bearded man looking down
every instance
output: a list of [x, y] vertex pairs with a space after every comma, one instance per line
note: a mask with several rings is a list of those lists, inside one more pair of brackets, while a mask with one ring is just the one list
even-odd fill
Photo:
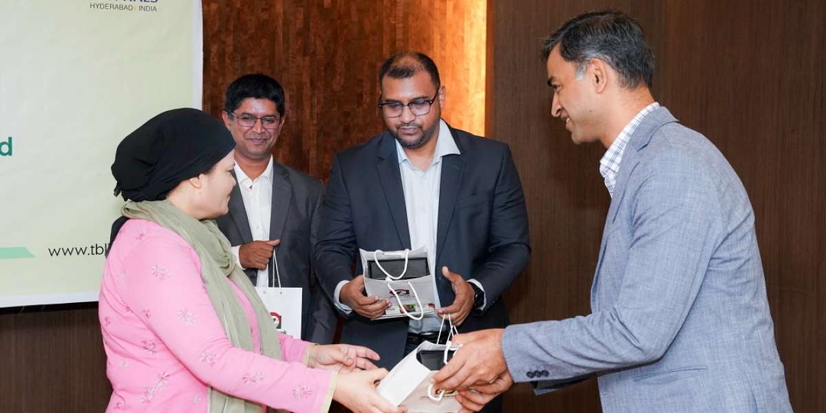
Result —
[[[443, 159], [435, 254], [436, 284], [443, 306], [455, 298], [439, 268], [447, 265], [482, 283], [487, 305], [471, 314], [460, 331], [504, 327], [500, 297], [529, 262], [525, 195], [510, 149], [496, 140], [450, 128], [461, 154]], [[417, 202], [415, 199], [407, 202]], [[385, 131], [363, 145], [335, 155], [321, 206], [316, 274], [333, 297], [336, 285], [363, 273], [358, 248], [411, 248], [396, 140]], [[345, 315], [341, 341], [365, 345], [392, 368], [404, 353], [406, 318], [371, 321]]]

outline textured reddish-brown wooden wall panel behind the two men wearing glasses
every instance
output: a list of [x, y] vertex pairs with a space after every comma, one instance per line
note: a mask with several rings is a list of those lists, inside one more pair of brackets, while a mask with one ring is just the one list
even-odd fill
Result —
[[[487, 3], [204, 0], [204, 110], [219, 116], [229, 83], [277, 78], [287, 126], [276, 158], [325, 178], [332, 154], [382, 131], [377, 74], [384, 59], [420, 50], [447, 88], [444, 117], [484, 131]], [[471, 108], [468, 108], [471, 107]]]

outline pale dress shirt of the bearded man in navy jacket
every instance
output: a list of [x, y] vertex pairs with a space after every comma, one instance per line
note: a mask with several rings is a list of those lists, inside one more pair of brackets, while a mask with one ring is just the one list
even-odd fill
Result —
[[[407, 212], [407, 229], [411, 236], [411, 248], [416, 249], [424, 245], [430, 256], [430, 273], [436, 274], [436, 231], [439, 224], [439, 188], [442, 180], [442, 158], [449, 154], [459, 154], [456, 141], [450, 134], [448, 124], [439, 120], [439, 135], [436, 137], [436, 148], [433, 160], [427, 169], [421, 170], [413, 166], [407, 158], [404, 148], [396, 141], [396, 155], [401, 173], [401, 186], [405, 193], [405, 207]], [[441, 271], [439, 269], [439, 271]], [[476, 280], [468, 280], [482, 288]], [[339, 282], [335, 287], [335, 306], [344, 312], [353, 311], [352, 308], [339, 301], [341, 287], [346, 281]], [[482, 290], [484, 291], [484, 290]], [[433, 286], [436, 305], [439, 302], [439, 292]], [[425, 316], [422, 320], [410, 320], [410, 330], [414, 333], [421, 331], [438, 331], [441, 318], [435, 314]]]

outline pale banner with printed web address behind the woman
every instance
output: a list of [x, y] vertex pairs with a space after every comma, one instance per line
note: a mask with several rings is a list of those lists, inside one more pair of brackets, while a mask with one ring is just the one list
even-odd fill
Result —
[[201, 0], [0, 0], [0, 306], [97, 301], [129, 132], [201, 107]]

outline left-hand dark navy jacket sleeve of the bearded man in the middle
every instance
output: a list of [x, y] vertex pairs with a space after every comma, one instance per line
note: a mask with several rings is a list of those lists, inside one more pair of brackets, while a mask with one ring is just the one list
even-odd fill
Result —
[[[330, 301], [335, 301], [335, 287], [353, 279], [356, 237], [353, 229], [353, 209], [344, 185], [339, 155], [333, 159], [330, 180], [321, 202], [318, 244], [316, 244], [316, 275]], [[349, 316], [339, 311], [342, 316]]]

